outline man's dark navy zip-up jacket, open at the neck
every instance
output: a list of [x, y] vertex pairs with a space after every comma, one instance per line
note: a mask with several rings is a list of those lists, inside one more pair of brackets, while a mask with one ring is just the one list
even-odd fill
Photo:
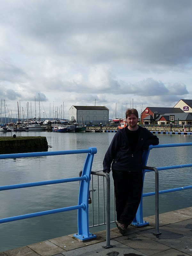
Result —
[[[140, 128], [140, 136], [137, 146], [132, 152], [126, 128], [119, 130], [115, 135], [105, 154], [103, 160], [103, 172], [110, 172], [110, 169], [125, 172], [142, 171], [142, 154], [149, 145], [158, 145], [159, 139], [156, 135], [144, 127]], [[112, 163], [112, 165], [111, 165]]]

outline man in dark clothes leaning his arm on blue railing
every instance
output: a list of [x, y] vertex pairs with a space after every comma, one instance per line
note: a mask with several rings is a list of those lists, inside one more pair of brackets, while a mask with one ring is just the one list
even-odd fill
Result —
[[114, 135], [103, 160], [103, 172], [109, 173], [112, 168], [116, 226], [122, 235], [132, 223], [140, 204], [143, 187], [143, 151], [147, 150], [149, 145], [159, 144], [156, 135], [137, 125], [138, 116], [135, 108], [127, 109], [128, 126]]

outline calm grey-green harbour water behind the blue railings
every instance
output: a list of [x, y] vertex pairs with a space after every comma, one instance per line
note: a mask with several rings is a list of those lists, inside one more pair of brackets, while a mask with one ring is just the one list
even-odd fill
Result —
[[[13, 134], [1, 132], [0, 136]], [[46, 136], [48, 151], [96, 147], [98, 152], [94, 156], [92, 170], [101, 171], [103, 157], [115, 133], [17, 132], [17, 136], [34, 135]], [[160, 144], [192, 142], [192, 135], [157, 134], [157, 136]], [[0, 160], [0, 185], [77, 177], [83, 169], [85, 158], [86, 154], [3, 159]], [[191, 147], [176, 147], [152, 149], [147, 165], [160, 167], [189, 163], [192, 163]], [[191, 185], [191, 180], [191, 168], [160, 171], [159, 190], [188, 186]], [[79, 183], [73, 182], [1, 191], [0, 218], [75, 205], [78, 202], [78, 189]], [[152, 191], [155, 191], [154, 172], [146, 173], [144, 182], [144, 193]], [[191, 198], [191, 189], [160, 195], [159, 212], [189, 207]], [[153, 214], [155, 214], [155, 197], [145, 197], [143, 215], [145, 217]], [[91, 232], [103, 229], [105, 226], [91, 228]], [[0, 224], [0, 252], [76, 232], [76, 210], [3, 223]]]

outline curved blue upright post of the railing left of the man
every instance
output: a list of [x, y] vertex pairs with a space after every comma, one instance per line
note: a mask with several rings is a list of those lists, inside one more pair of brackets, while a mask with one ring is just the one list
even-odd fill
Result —
[[82, 209], [78, 209], [77, 222], [78, 222], [78, 233], [74, 237], [81, 241], [95, 238], [96, 235], [89, 233], [89, 215], [88, 215], [88, 196], [89, 196], [89, 184], [91, 180], [91, 169], [93, 156], [97, 153], [97, 148], [90, 148], [91, 153], [87, 154], [85, 160], [82, 176], [85, 176], [85, 180], [81, 180], [79, 188], [79, 201], [78, 204], [83, 204]]

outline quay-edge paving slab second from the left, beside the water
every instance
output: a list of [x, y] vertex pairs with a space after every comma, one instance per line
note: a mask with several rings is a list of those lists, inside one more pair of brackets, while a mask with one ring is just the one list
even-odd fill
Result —
[[64, 251], [64, 249], [51, 243], [50, 241], [44, 241], [44, 242], [40, 242], [40, 243], [36, 243], [36, 244], [30, 244], [30, 245], [28, 245], [28, 247], [41, 256], [52, 256], [54, 254], [58, 254], [58, 253]]

